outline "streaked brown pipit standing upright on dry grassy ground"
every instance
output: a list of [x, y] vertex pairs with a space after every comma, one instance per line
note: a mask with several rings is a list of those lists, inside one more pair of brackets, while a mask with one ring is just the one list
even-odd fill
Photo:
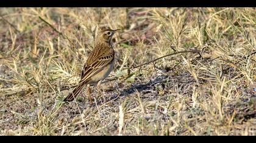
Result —
[[76, 88], [70, 93], [63, 101], [73, 101], [80, 91], [87, 86], [88, 96], [90, 102], [90, 85], [96, 85], [99, 90], [99, 84], [107, 78], [113, 70], [115, 64], [115, 51], [112, 47], [112, 36], [119, 29], [102, 29], [96, 39], [94, 40], [93, 52], [88, 56], [85, 62], [84, 69], [82, 70], [81, 79]]

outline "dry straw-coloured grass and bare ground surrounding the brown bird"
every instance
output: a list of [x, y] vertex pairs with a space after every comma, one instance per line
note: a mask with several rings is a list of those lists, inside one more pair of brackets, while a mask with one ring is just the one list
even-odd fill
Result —
[[[1, 8], [0, 135], [256, 135], [255, 13]], [[115, 70], [94, 105], [63, 104], [98, 26], [121, 28]]]

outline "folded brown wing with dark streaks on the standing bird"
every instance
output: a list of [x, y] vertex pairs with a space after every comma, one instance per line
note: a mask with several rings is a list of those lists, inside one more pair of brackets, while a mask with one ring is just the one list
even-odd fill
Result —
[[103, 70], [103, 68], [110, 64], [115, 58], [115, 52], [113, 49], [108, 50], [108, 52], [101, 53], [102, 54], [98, 54], [93, 51], [93, 53], [88, 57], [81, 74], [80, 82], [84, 82], [99, 73], [99, 71]]

